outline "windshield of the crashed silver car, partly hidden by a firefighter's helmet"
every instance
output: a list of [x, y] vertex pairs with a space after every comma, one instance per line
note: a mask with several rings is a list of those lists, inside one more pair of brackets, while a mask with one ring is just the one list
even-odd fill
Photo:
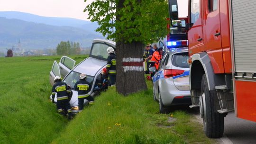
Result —
[[[66, 76], [64, 82], [67, 83], [67, 85], [69, 85], [72, 89], [74, 89], [74, 84], [76, 83], [76, 81], [79, 81], [80, 74], [81, 73], [79, 72], [72, 71]], [[87, 75], [86, 81], [92, 84], [93, 78], [93, 76]]]

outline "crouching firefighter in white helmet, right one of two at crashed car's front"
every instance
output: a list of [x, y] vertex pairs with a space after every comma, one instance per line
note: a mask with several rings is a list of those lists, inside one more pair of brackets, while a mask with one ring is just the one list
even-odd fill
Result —
[[83, 109], [84, 99], [89, 101], [89, 105], [93, 104], [94, 99], [88, 92], [91, 90], [90, 83], [86, 81], [86, 74], [81, 73], [79, 76], [79, 81], [77, 81], [74, 85], [74, 89], [78, 91], [78, 108], [79, 112]]

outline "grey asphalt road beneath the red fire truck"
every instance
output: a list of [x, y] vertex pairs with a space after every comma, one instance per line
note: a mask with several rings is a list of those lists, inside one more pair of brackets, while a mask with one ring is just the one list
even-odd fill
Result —
[[256, 122], [237, 118], [232, 112], [225, 117], [224, 125], [224, 135], [233, 144], [256, 144]]

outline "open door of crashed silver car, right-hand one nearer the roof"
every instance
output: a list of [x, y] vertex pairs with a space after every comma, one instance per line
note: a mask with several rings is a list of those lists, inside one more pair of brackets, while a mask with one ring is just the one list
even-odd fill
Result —
[[72, 58], [67, 56], [61, 57], [61, 60], [59, 62], [61, 78], [64, 78], [68, 74], [68, 72], [73, 69], [74, 65], [75, 60], [73, 60]]

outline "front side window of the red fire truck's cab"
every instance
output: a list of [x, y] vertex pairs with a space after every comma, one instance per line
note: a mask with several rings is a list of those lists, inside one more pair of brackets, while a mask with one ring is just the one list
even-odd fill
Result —
[[200, 0], [191, 0], [191, 23], [196, 23], [200, 18]]

